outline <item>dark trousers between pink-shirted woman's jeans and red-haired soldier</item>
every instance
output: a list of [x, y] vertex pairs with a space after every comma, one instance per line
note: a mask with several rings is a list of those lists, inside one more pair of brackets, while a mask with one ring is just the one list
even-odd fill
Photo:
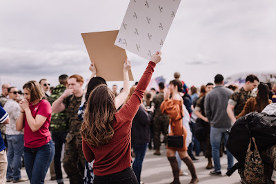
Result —
[[68, 132], [52, 132], [52, 141], [55, 143], [55, 156], [54, 165], [57, 183], [63, 182], [62, 172], [61, 172], [61, 151], [62, 145], [66, 142], [66, 135]]

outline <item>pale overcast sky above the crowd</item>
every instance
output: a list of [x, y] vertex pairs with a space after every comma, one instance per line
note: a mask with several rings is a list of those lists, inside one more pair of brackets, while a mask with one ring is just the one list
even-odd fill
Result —
[[[90, 59], [81, 33], [119, 30], [128, 3], [1, 0], [1, 83], [21, 89], [42, 78], [57, 85], [60, 74], [88, 79]], [[170, 81], [178, 71], [189, 86], [200, 86], [217, 73], [275, 72], [275, 10], [275, 0], [182, 0], [153, 77]], [[127, 54], [138, 81], [148, 61]]]

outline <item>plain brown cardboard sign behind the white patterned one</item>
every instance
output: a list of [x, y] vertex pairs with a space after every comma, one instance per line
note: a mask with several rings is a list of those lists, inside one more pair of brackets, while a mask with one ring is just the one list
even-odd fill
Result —
[[[97, 76], [106, 81], [123, 81], [123, 65], [126, 60], [126, 50], [114, 45], [118, 30], [106, 32], [81, 33], [91, 62], [95, 63]], [[128, 72], [133, 81], [131, 70]]]

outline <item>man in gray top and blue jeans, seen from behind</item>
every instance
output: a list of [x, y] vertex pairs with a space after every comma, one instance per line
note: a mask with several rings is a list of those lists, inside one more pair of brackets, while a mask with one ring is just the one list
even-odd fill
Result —
[[[226, 130], [231, 130], [232, 123], [227, 114], [227, 105], [230, 95], [233, 94], [232, 90], [224, 88], [224, 77], [221, 74], [215, 76], [215, 88], [208, 92], [205, 97], [204, 108], [206, 117], [210, 123], [210, 143], [212, 145], [212, 155], [215, 165], [215, 171], [210, 172], [210, 175], [221, 176], [221, 165], [219, 161], [219, 147], [221, 138], [224, 138], [226, 145], [228, 134]], [[233, 167], [233, 155], [228, 150], [227, 160], [230, 170]]]

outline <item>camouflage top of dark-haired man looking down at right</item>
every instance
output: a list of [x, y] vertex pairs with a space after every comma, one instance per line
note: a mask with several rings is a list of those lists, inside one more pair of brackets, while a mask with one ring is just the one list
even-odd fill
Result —
[[239, 113], [244, 110], [244, 105], [246, 105], [246, 101], [250, 99], [251, 92], [246, 92], [244, 87], [234, 92], [228, 101], [228, 103], [235, 105], [234, 112], [235, 116], [239, 115]]

